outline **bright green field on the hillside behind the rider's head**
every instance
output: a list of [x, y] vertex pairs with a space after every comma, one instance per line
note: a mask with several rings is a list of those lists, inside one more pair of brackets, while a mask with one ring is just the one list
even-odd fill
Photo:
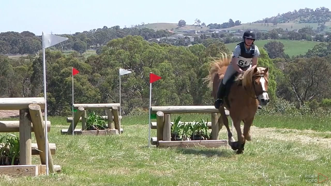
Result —
[[[312, 49], [315, 45], [319, 44], [320, 42], [317, 41], [298, 41], [298, 40], [286, 40], [286, 39], [270, 39], [270, 40], [258, 40], [254, 43], [259, 47], [263, 48], [265, 44], [270, 41], [279, 41], [284, 44], [284, 52], [289, 56], [297, 56], [300, 54], [306, 54], [308, 49]], [[230, 51], [233, 51], [238, 43], [228, 43], [225, 44], [226, 48]]]

